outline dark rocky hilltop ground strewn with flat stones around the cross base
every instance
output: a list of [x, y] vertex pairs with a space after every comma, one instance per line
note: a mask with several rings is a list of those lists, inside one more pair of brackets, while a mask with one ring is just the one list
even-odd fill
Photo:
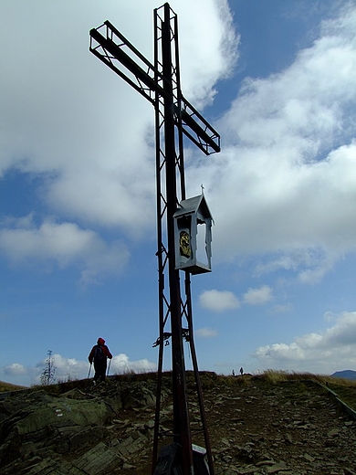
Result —
[[[170, 375], [164, 383], [161, 425], [169, 427]], [[215, 475], [356, 474], [356, 421], [320, 385], [215, 374], [202, 375], [202, 385]], [[155, 375], [54, 389], [0, 401], [1, 474], [151, 474]], [[190, 377], [188, 396], [194, 429], [200, 417]]]

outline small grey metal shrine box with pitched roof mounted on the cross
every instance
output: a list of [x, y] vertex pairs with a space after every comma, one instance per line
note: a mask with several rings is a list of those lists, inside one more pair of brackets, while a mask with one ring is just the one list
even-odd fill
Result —
[[175, 269], [211, 272], [213, 216], [204, 195], [181, 201], [173, 218]]

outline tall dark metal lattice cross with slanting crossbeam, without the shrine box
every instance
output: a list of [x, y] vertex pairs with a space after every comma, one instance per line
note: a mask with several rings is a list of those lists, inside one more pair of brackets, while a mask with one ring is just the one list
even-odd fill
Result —
[[[173, 216], [185, 200], [183, 135], [205, 154], [220, 152], [220, 136], [184, 99], [180, 83], [178, 23], [168, 3], [154, 10], [154, 64], [106, 21], [91, 29], [89, 50], [149, 100], [155, 111], [157, 258], [159, 272], [159, 329], [153, 346], [159, 347], [157, 403], [152, 450], [152, 474], [214, 475], [204, 415], [204, 401], [194, 348], [190, 272], [175, 268]], [[183, 275], [181, 282], [180, 275]], [[168, 285], [167, 285], [168, 283]], [[159, 453], [162, 362], [172, 340], [173, 431], [172, 444]], [[192, 446], [183, 341], [189, 343], [200, 407], [205, 449]], [[167, 434], [164, 434], [167, 436]]]

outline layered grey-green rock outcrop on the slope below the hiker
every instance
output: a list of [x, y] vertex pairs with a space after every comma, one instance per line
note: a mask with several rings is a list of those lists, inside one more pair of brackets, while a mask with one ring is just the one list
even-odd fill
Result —
[[149, 387], [131, 390], [130, 384], [108, 382], [60, 396], [25, 391], [6, 399], [0, 403], [1, 473], [98, 475], [133, 469], [136, 452], [150, 445], [153, 423], [129, 423], [120, 418], [122, 406], [144, 410], [155, 396]]

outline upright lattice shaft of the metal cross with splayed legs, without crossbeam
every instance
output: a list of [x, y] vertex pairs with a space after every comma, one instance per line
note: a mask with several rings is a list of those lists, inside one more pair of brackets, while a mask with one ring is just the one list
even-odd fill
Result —
[[[186, 396], [185, 365], [183, 354], [183, 337], [189, 342], [198, 400], [204, 431], [205, 449], [211, 474], [214, 466], [211, 457], [210, 441], [204, 416], [204, 403], [200, 377], [194, 349], [194, 332], [192, 319], [191, 281], [189, 272], [185, 271], [184, 290], [181, 289], [180, 272], [174, 269], [174, 228], [173, 215], [179, 202], [185, 199], [185, 178], [183, 163], [183, 98], [180, 84], [180, 65], [178, 50], [177, 16], [168, 4], [154, 10], [154, 68], [156, 80], [162, 80], [166, 94], [156, 94], [156, 178], [157, 178], [157, 237], [159, 269], [159, 363], [155, 431], [153, 439], [153, 464], [157, 459], [160, 428], [160, 405], [162, 386], [162, 361], [165, 345], [165, 327], [171, 317], [172, 362], [173, 362], [173, 441], [182, 447], [183, 473], [192, 470], [192, 434], [189, 422], [188, 400]], [[161, 76], [161, 74], [162, 76]], [[191, 138], [191, 137], [190, 137]], [[194, 141], [195, 142], [195, 141]], [[164, 143], [164, 148], [162, 147]], [[196, 143], [196, 142], [195, 142]], [[198, 142], [200, 143], [200, 142]], [[204, 151], [206, 148], [204, 148]], [[206, 153], [206, 152], [205, 152]], [[164, 185], [165, 182], [165, 185]], [[164, 221], [165, 220], [165, 221]], [[163, 230], [166, 222], [166, 232]], [[165, 293], [165, 273], [169, 275], [169, 296]], [[184, 295], [184, 297], [182, 297]], [[187, 328], [183, 329], [183, 318]], [[152, 465], [153, 465], [152, 464]], [[152, 471], [153, 473], [153, 471]]]

